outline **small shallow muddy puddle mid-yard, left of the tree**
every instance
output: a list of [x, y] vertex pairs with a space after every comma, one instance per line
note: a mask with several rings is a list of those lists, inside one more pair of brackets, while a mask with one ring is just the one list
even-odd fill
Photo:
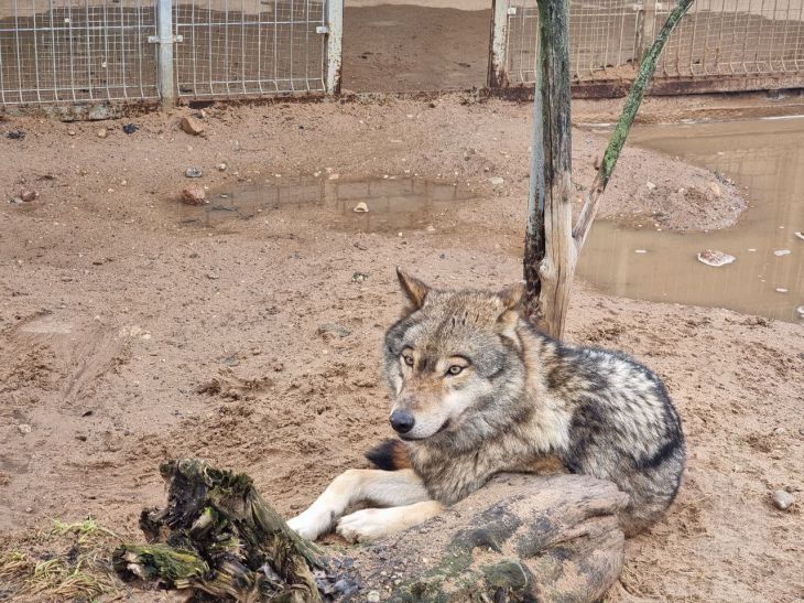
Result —
[[231, 229], [236, 220], [290, 212], [350, 231], [426, 230], [450, 222], [456, 203], [472, 196], [463, 185], [415, 177], [271, 177], [210, 191], [208, 204], [181, 207], [180, 223]]

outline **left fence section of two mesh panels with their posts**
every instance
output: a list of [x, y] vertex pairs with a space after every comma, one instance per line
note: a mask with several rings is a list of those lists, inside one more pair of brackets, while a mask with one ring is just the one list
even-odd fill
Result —
[[337, 93], [343, 0], [0, 0], [0, 106]]

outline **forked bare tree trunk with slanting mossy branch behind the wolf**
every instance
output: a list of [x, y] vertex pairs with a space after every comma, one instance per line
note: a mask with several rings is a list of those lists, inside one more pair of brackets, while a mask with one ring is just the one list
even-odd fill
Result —
[[578, 255], [595, 219], [664, 45], [694, 0], [678, 0], [645, 51], [600, 169], [572, 228], [568, 1], [539, 2], [539, 90], [534, 99], [531, 191], [525, 235], [525, 313], [545, 333], [564, 333]]

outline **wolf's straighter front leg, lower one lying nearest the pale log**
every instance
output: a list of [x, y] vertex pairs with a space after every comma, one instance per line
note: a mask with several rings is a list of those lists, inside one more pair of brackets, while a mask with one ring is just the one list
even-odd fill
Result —
[[435, 517], [444, 505], [424, 500], [389, 509], [362, 509], [340, 518], [336, 531], [350, 542], [367, 542], [406, 530]]

